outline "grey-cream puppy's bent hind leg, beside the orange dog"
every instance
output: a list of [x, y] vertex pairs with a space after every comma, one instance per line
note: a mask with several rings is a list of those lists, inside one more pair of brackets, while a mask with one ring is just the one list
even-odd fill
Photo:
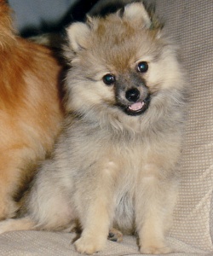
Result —
[[51, 160], [43, 163], [43, 170], [35, 178], [30, 194], [26, 197], [26, 212], [36, 222], [37, 230], [66, 230], [76, 219], [72, 202], [61, 187], [60, 178], [55, 172], [48, 172], [51, 166], [54, 171], [54, 165]]

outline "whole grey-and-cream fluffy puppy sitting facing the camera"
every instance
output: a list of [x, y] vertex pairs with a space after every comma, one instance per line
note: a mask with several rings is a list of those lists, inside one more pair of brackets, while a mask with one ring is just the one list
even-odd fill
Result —
[[142, 3], [67, 29], [64, 130], [8, 230], [70, 230], [79, 253], [109, 230], [136, 233], [141, 253], [169, 253], [185, 79], [176, 47]]

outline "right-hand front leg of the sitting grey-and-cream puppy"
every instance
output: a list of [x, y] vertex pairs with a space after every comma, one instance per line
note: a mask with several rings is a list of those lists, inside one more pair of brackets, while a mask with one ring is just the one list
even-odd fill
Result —
[[[165, 232], [176, 201], [176, 182], [158, 177], [158, 166], [148, 165], [151, 173], [136, 186], [135, 215], [141, 253], [170, 253]], [[147, 172], [147, 173], [148, 173]]]

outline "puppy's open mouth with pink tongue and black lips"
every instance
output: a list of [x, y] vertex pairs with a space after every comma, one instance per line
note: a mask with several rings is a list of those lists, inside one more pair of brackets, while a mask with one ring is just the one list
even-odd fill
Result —
[[139, 115], [141, 113], [144, 113], [149, 106], [150, 100], [151, 100], [151, 97], [150, 97], [150, 95], [148, 95], [144, 101], [135, 102], [135, 103], [131, 104], [130, 106], [125, 107], [124, 112], [129, 115]]

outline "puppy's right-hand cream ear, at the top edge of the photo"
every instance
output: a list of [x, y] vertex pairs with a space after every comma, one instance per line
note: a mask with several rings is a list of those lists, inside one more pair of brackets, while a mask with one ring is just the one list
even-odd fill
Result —
[[142, 3], [127, 4], [124, 8], [124, 17], [130, 20], [140, 20], [147, 28], [152, 25], [152, 21]]

